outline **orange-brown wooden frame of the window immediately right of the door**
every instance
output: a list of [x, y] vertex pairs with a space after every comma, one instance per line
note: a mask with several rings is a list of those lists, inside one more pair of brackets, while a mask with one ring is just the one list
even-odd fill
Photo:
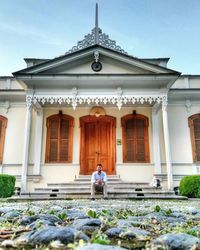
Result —
[[[127, 160], [127, 147], [126, 147], [126, 122], [132, 120], [134, 118], [143, 119], [145, 122], [144, 134], [145, 134], [145, 160], [144, 161], [128, 161]], [[150, 155], [149, 155], [149, 118], [147, 116], [141, 114], [128, 114], [121, 117], [121, 126], [122, 126], [122, 150], [123, 150], [123, 162], [124, 163], [150, 163]], [[134, 141], [134, 144], [136, 141]], [[134, 152], [134, 155], [136, 152]]]

